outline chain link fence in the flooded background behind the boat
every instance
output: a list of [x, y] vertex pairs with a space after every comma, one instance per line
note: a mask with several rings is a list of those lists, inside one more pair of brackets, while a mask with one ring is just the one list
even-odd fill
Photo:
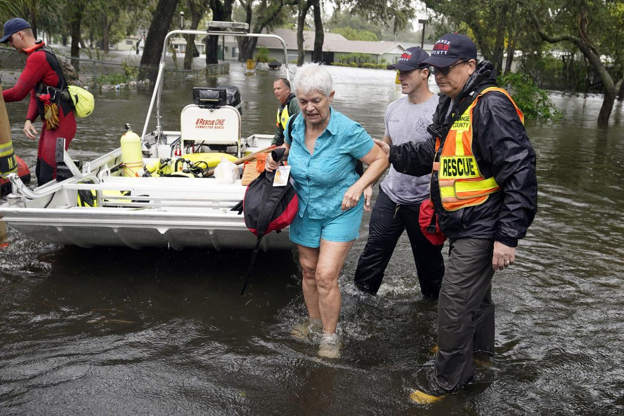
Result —
[[[69, 59], [69, 57], [67, 57]], [[26, 55], [17, 53], [14, 49], [0, 47], [0, 81], [2, 88], [7, 89], [16, 84], [19, 75], [26, 65]], [[204, 79], [228, 74], [230, 64], [207, 65], [205, 67], [176, 70], [175, 65], [168, 64], [165, 67], [165, 82], [174, 83], [186, 79]], [[139, 67], [137, 65], [119, 62], [105, 62], [102, 60], [79, 59], [80, 81], [90, 87], [101, 87], [104, 85], [125, 84], [127, 82], [138, 82]]]

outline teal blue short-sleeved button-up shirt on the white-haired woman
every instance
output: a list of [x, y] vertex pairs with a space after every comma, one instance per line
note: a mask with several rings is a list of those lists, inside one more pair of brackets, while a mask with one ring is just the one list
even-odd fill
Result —
[[356, 160], [374, 146], [373, 139], [359, 123], [330, 107], [329, 123], [310, 154], [305, 144], [305, 119], [299, 115], [291, 128], [288, 164], [299, 198], [299, 216], [306, 210], [310, 218], [333, 218], [342, 212], [344, 193], [359, 175]]

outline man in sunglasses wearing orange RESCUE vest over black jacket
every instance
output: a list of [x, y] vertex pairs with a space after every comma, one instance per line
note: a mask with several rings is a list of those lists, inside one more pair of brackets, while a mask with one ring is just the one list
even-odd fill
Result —
[[410, 395], [427, 404], [466, 385], [475, 358], [494, 354], [492, 276], [514, 264], [518, 240], [537, 212], [537, 179], [522, 112], [497, 87], [493, 65], [477, 64], [475, 44], [444, 35], [423, 64], [434, 67], [446, 96], [427, 128], [432, 137], [396, 146], [375, 142], [397, 172], [431, 173], [434, 211], [450, 242], [434, 370]]

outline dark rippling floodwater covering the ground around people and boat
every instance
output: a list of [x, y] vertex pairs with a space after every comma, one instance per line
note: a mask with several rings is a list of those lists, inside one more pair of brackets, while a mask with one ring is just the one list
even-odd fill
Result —
[[[381, 137], [386, 105], [401, 96], [392, 71], [331, 72], [334, 107]], [[230, 75], [195, 85], [238, 85], [243, 135], [270, 133], [276, 76], [246, 77], [234, 64]], [[165, 129], [177, 130], [192, 86], [167, 88]], [[141, 130], [149, 98], [96, 94], [74, 158], [119, 146], [125, 122]], [[553, 100], [562, 120], [527, 122], [539, 213], [516, 264], [494, 276], [496, 356], [467, 389], [425, 407], [410, 402], [418, 375], [432, 368], [436, 304], [420, 296], [406, 238], [379, 296], [354, 288], [368, 216], [340, 278], [338, 360], [290, 336], [306, 315], [294, 253], [261, 253], [240, 297], [248, 251], [80, 249], [9, 230], [0, 254], [0, 414], [624, 414], [624, 110], [617, 102], [599, 130], [600, 97]], [[36, 143], [21, 133], [26, 103], [8, 107], [16, 150], [32, 166]]]

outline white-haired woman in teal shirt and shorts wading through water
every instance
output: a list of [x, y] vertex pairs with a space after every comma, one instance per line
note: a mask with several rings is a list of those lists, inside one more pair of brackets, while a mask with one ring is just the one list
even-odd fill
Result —
[[[323, 330], [318, 354], [336, 358], [340, 315], [338, 276], [353, 241], [358, 238], [364, 210], [364, 188], [388, 167], [388, 158], [361, 125], [331, 107], [333, 81], [319, 64], [297, 70], [295, 92], [303, 117], [292, 122], [286, 148], [295, 180], [299, 211], [290, 225], [303, 270], [303, 298], [310, 319], [293, 327], [296, 337]], [[362, 177], [357, 160], [369, 165]], [[266, 158], [266, 170], [278, 166]]]

